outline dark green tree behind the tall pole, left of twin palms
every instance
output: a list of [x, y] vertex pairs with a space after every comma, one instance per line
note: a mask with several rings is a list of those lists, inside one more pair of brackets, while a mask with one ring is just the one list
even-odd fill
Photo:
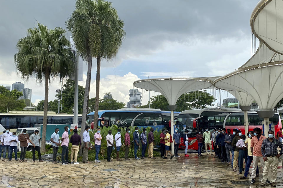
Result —
[[[75, 100], [75, 81], [68, 79], [63, 85], [62, 91], [62, 101], [61, 93], [57, 94], [56, 97], [60, 99], [60, 104], [62, 104], [62, 111], [67, 114], [73, 114], [74, 100]], [[79, 85], [78, 92], [78, 114], [83, 113], [83, 97], [85, 93], [85, 88]], [[58, 111], [58, 110], [57, 110]]]

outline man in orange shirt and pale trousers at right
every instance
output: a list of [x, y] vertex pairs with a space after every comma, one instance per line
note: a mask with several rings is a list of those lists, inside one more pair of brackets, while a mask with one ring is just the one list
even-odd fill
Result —
[[261, 135], [261, 129], [259, 127], [254, 128], [254, 137], [251, 139], [251, 153], [253, 155], [253, 169], [251, 170], [251, 183], [255, 183], [256, 168], [260, 161], [261, 168], [264, 169], [264, 159], [261, 154], [261, 145], [265, 136]]

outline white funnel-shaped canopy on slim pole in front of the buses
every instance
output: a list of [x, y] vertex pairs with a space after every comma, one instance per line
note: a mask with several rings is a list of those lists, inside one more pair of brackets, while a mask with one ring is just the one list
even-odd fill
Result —
[[[209, 77], [211, 78], [211, 77]], [[137, 80], [134, 86], [141, 89], [156, 91], [164, 95], [171, 110], [171, 135], [174, 133], [174, 110], [178, 98], [185, 92], [202, 90], [212, 86], [212, 81], [205, 78], [155, 78]], [[174, 144], [171, 146], [174, 154]]]

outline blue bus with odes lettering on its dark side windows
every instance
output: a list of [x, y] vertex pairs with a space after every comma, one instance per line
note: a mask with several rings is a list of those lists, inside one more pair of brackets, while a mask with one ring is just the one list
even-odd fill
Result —
[[[171, 112], [148, 108], [122, 108], [118, 110], [99, 110], [98, 126], [117, 125], [118, 127], [153, 127], [154, 130], [168, 129]], [[180, 112], [174, 112], [177, 118]], [[94, 121], [94, 112], [88, 114], [86, 124], [91, 126]], [[171, 129], [170, 129], [171, 130]]]

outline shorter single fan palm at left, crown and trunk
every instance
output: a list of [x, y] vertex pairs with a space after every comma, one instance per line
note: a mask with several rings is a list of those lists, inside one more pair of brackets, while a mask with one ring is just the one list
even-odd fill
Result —
[[14, 56], [17, 72], [23, 79], [35, 76], [38, 83], [45, 80], [44, 115], [41, 151], [45, 152], [47, 124], [48, 84], [55, 77], [68, 78], [74, 71], [76, 53], [70, 41], [65, 37], [65, 29], [37, 24], [38, 28], [29, 28], [27, 36], [19, 39], [18, 53]]

